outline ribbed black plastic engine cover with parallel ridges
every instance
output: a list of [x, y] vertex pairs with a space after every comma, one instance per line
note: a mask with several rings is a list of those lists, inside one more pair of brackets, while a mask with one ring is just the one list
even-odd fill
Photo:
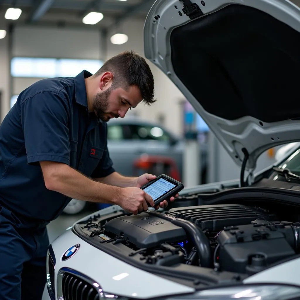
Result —
[[269, 215], [239, 204], [199, 205], [171, 208], [168, 214], [182, 218], [199, 226], [202, 230], [221, 231], [224, 226], [250, 224], [257, 218], [276, 220], [276, 216]]

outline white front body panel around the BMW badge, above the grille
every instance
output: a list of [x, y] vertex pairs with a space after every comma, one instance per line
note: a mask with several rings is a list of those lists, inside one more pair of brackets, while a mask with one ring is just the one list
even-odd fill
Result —
[[[67, 249], [75, 244], [80, 244], [79, 250], [62, 261]], [[83, 241], [71, 230], [59, 236], [52, 243], [52, 249], [56, 255], [55, 280], [61, 268], [70, 268], [92, 278], [104, 292], [131, 298], [143, 299], [194, 291], [191, 287], [155, 276], [116, 259]], [[124, 278], [114, 280], [113, 277], [120, 274], [124, 274]]]

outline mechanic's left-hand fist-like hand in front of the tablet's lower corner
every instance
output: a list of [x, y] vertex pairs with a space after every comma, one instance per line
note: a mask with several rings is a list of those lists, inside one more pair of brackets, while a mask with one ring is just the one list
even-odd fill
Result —
[[124, 187], [122, 191], [121, 199], [116, 204], [120, 205], [126, 211], [133, 214], [146, 211], [148, 209], [147, 202], [150, 206], [154, 206], [152, 197], [138, 187]]

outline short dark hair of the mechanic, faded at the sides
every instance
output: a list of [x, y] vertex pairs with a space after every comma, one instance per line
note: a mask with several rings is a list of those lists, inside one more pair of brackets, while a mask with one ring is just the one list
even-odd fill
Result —
[[137, 85], [145, 104], [151, 105], [154, 99], [153, 74], [145, 58], [134, 51], [124, 51], [107, 60], [94, 74], [95, 77], [104, 72], [113, 73], [113, 88]]

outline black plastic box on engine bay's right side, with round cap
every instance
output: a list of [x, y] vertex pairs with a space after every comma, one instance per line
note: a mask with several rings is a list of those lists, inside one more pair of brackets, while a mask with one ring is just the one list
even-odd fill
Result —
[[269, 222], [229, 226], [218, 235], [222, 270], [254, 274], [267, 265], [295, 255], [280, 229]]

